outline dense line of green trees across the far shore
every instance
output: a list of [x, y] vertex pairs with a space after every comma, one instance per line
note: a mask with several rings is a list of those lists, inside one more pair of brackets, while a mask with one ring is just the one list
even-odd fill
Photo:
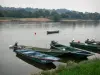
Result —
[[0, 17], [100, 20], [100, 13], [78, 12], [67, 9], [15, 8], [0, 6]]

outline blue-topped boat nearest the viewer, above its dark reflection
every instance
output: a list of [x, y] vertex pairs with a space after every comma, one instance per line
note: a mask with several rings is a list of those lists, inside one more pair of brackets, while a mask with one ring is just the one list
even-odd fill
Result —
[[24, 56], [25, 58], [28, 58], [30, 60], [33, 60], [33, 61], [36, 61], [39, 63], [43, 63], [43, 64], [52, 63], [54, 61], [60, 60], [57, 57], [47, 55], [44, 53], [40, 53], [37, 51], [33, 51], [31, 49], [17, 49], [15, 52], [18, 55]]

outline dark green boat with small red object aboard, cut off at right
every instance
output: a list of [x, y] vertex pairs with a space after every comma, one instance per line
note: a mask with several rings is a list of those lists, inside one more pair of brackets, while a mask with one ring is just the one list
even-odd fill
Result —
[[96, 45], [96, 44], [87, 44], [87, 43], [72, 41], [70, 42], [70, 46], [100, 53], [100, 45]]

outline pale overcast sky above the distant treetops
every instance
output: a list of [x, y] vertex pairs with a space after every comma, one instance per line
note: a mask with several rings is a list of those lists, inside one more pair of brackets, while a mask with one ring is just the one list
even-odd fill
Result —
[[7, 7], [65, 8], [82, 12], [99, 12], [100, 0], [0, 0]]

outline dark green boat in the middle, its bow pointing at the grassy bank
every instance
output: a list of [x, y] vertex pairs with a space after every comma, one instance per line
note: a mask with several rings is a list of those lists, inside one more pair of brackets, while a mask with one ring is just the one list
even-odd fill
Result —
[[93, 53], [91, 53], [89, 51], [76, 49], [74, 47], [68, 47], [68, 46], [59, 44], [55, 41], [51, 41], [50, 46], [52, 49], [57, 49], [59, 51], [68, 52], [66, 54], [70, 54], [70, 55], [78, 57], [78, 58], [87, 58], [87, 56], [93, 55]]

